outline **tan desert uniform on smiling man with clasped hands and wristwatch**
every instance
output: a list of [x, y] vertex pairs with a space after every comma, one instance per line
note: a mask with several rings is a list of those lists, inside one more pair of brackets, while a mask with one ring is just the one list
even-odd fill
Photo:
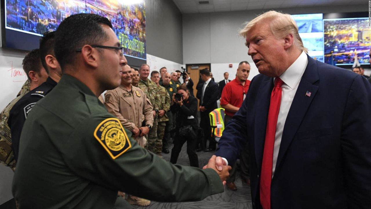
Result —
[[[145, 125], [153, 126], [153, 106], [144, 92], [138, 87], [131, 86], [131, 91], [119, 86], [105, 93], [105, 106], [109, 113], [116, 116], [122, 126], [132, 131], [134, 127], [140, 128], [143, 120]], [[135, 138], [141, 147], [144, 147], [143, 136]]]

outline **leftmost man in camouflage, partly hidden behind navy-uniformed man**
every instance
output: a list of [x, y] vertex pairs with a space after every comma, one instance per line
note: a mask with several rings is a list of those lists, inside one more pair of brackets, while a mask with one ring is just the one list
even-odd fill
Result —
[[9, 166], [12, 170], [16, 168], [16, 159], [14, 158], [12, 137], [8, 125], [10, 110], [12, 110], [13, 106], [25, 94], [40, 86], [40, 84], [44, 83], [47, 78], [45, 68], [41, 64], [39, 49], [33, 49], [30, 51], [24, 57], [22, 66], [27, 75], [27, 81], [23, 84], [17, 97], [13, 99], [0, 113], [0, 163]]

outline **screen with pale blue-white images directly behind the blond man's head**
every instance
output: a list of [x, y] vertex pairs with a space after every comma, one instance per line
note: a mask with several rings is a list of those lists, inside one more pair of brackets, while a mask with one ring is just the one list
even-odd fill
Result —
[[323, 14], [292, 15], [303, 45], [313, 59], [324, 61]]

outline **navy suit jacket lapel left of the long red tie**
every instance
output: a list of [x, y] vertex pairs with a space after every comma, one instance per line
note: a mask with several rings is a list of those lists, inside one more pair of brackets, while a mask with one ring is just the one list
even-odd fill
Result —
[[256, 104], [257, 107], [256, 107], [255, 124], [254, 124], [255, 126], [254, 127], [255, 158], [256, 158], [256, 164], [257, 164], [259, 173], [262, 167], [265, 133], [266, 133], [269, 103], [270, 103], [270, 94], [272, 93], [272, 89], [273, 89], [273, 78], [267, 78], [267, 81], [263, 82], [263, 85], [260, 88], [259, 93], [257, 94], [258, 97], [255, 100], [256, 102], [259, 101], [259, 103]]

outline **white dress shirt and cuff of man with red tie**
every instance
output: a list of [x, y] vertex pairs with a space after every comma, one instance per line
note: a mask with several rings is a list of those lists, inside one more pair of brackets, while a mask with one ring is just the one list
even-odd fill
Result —
[[[306, 65], [308, 65], [308, 57], [306, 56], [305, 52], [302, 52], [298, 59], [296, 59], [295, 62], [280, 76], [281, 80], [284, 83], [282, 84], [281, 105], [278, 113], [275, 145], [273, 148], [272, 178], [276, 170], [276, 163], [279, 147], [281, 145], [283, 127], [285, 127], [286, 118], [289, 113], [292, 100], [294, 99], [296, 90], [298, 90], [298, 86], [304, 74]], [[275, 79], [276, 78], [273, 79], [273, 83]], [[228, 165], [227, 159], [223, 158], [223, 160], [225, 160]]]

